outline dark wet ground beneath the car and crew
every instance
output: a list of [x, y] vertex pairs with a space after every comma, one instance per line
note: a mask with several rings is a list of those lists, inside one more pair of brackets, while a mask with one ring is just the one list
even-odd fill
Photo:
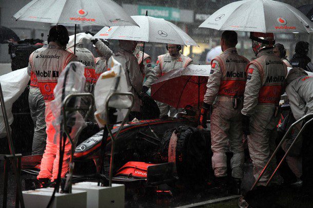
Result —
[[[0, 163], [0, 169], [3, 170], [3, 162]], [[22, 174], [22, 188], [25, 190], [25, 179], [35, 178], [30, 174]], [[248, 190], [252, 185], [252, 166], [245, 164], [245, 179], [242, 188]], [[0, 204], [3, 204], [3, 174], [0, 176]], [[127, 190], [125, 197], [125, 207], [238, 207], [237, 198], [229, 199], [223, 202], [214, 202], [212, 199], [227, 197], [225, 192], [219, 190], [208, 190], [201, 188], [138, 188]], [[15, 178], [12, 172], [9, 173], [8, 187], [8, 207], [15, 207]], [[169, 192], [170, 191], [170, 192]], [[305, 198], [300, 191], [299, 186], [283, 186], [275, 193], [277, 200], [275, 207], [313, 207], [313, 200]], [[262, 196], [260, 197], [262, 199]], [[203, 203], [205, 202], [205, 203]], [[198, 203], [198, 204], [197, 204]], [[209, 203], [209, 204], [207, 204]]]

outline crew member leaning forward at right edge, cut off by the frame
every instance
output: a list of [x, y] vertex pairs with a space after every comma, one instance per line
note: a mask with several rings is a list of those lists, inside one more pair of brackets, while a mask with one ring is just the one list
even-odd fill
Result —
[[[296, 120], [307, 114], [313, 113], [313, 77], [308, 76], [302, 68], [290, 69], [286, 78], [286, 93], [289, 104]], [[306, 121], [311, 119], [308, 118]], [[312, 196], [313, 191], [313, 137], [312, 123], [309, 124], [302, 134], [302, 185], [304, 191]]]

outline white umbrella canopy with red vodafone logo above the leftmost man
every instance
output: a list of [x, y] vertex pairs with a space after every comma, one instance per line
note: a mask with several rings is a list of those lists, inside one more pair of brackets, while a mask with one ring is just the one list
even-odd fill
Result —
[[16, 20], [77, 25], [136, 25], [110, 0], [33, 0], [13, 15]]

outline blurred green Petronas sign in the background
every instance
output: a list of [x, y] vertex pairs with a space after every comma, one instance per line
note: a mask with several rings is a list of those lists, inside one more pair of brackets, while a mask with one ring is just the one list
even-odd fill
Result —
[[172, 7], [154, 7], [138, 5], [138, 14], [145, 15], [148, 11], [148, 16], [164, 18], [164, 20], [179, 21], [180, 11]]

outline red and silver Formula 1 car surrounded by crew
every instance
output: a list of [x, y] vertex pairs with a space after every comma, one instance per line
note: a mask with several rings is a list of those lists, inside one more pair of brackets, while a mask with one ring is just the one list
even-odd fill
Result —
[[[113, 136], [120, 126], [120, 124], [114, 125]], [[163, 183], [170, 184], [179, 178], [188, 181], [188, 179], [193, 179], [192, 174], [198, 174], [198, 178], [201, 174], [202, 178], [207, 177], [210, 166], [208, 164], [210, 162], [208, 155], [210, 133], [192, 126], [194, 124], [187, 119], [171, 118], [125, 124], [115, 141], [112, 182], [130, 186], [132, 184], [155, 186]], [[176, 144], [173, 145], [170, 139], [174, 132], [178, 137]], [[76, 146], [73, 181], [90, 180], [91, 175], [101, 171], [102, 138], [103, 130]], [[107, 177], [110, 150], [111, 138], [108, 136], [103, 165], [103, 172]], [[174, 160], [173, 157], [169, 159], [170, 154], [175, 154]], [[22, 170], [37, 174], [41, 159], [42, 155], [22, 157]], [[190, 167], [185, 168], [186, 165]], [[189, 173], [190, 177], [186, 173]]]

